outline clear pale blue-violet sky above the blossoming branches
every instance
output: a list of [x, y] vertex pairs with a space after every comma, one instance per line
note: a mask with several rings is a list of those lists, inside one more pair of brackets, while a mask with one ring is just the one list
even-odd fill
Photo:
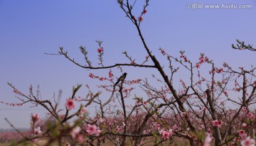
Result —
[[[192, 4], [203, 4], [203, 8], [191, 9]], [[250, 4], [252, 8], [206, 9], [208, 4]], [[139, 0], [136, 17], [142, 11], [141, 5]], [[174, 56], [185, 50], [191, 60], [198, 60], [200, 52], [204, 52], [219, 65], [225, 61], [233, 67], [250, 67], [256, 62], [256, 54], [232, 50], [230, 46], [236, 39], [256, 45], [255, 14], [254, 0], [151, 0], [141, 28], [146, 43], [163, 62], [159, 47]], [[97, 64], [98, 39], [103, 40], [106, 64], [129, 62], [124, 60], [124, 50], [138, 61], [146, 55], [136, 29], [114, 0], [0, 0], [0, 100], [18, 101], [7, 82], [24, 93], [28, 93], [30, 84], [40, 85], [43, 99], [61, 89], [63, 101], [72, 93], [72, 86], [95, 85], [88, 79], [93, 71], [44, 52], [56, 53], [63, 46], [70, 56], [82, 62], [78, 47], [83, 45]], [[128, 79], [154, 72], [125, 71], [129, 72]], [[107, 74], [108, 70], [96, 72]], [[83, 88], [80, 94], [85, 93]], [[18, 128], [28, 127], [30, 114], [37, 112], [43, 115], [43, 108], [10, 108], [1, 104], [0, 128], [10, 127], [5, 117]]]

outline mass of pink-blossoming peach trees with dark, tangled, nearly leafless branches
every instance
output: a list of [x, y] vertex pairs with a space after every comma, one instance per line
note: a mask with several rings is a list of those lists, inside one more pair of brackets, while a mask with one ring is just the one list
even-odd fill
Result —
[[[58, 55], [78, 67], [89, 71], [107, 69], [105, 76], [88, 73], [88, 78], [99, 83], [97, 87], [101, 91], [94, 93], [90, 85], [86, 85], [87, 95], [80, 97], [76, 95], [81, 87], [78, 85], [65, 99], [63, 109], [58, 108], [55, 96], [52, 100], [43, 100], [38, 96], [39, 89], [35, 94], [31, 86], [25, 95], [9, 84], [21, 103], [6, 104], [33, 103], [49, 113], [48, 120], [41, 120], [38, 114], [31, 115], [32, 135], [24, 136], [18, 143], [48, 137], [46, 145], [56, 141], [59, 145], [102, 145], [106, 140], [112, 145], [255, 145], [256, 68], [233, 69], [226, 62], [217, 67], [203, 53], [192, 62], [184, 51], [175, 57], [161, 47], [159, 54], [154, 55], [155, 49], [147, 45], [141, 30], [149, 0], [144, 1], [139, 13], [134, 12], [136, 0], [117, 0], [117, 3], [139, 34], [146, 53], [144, 61], [137, 62], [127, 50], [123, 55], [128, 62], [117, 60], [106, 65], [107, 49], [100, 40], [96, 41], [96, 65], [85, 47], [80, 47], [85, 64], [75, 61], [60, 47]], [[239, 40], [237, 43], [232, 45], [233, 49], [255, 51], [250, 44]], [[161, 57], [166, 58], [166, 62], [160, 62]], [[150, 79], [121, 80], [120, 74], [134, 74], [129, 70], [131, 67], [155, 69], [157, 74], [152, 74]], [[186, 77], [178, 79], [176, 74], [181, 72], [186, 72]], [[144, 94], [137, 96], [137, 92]], [[79, 104], [80, 108], [75, 111], [73, 108]], [[87, 111], [91, 104], [97, 105], [92, 116]], [[73, 141], [66, 142], [65, 137]]]

